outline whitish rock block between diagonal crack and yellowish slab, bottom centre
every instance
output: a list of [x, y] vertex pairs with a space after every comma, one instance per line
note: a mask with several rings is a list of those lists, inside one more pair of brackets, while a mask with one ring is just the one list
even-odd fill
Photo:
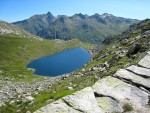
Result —
[[66, 96], [63, 100], [74, 109], [84, 113], [103, 113], [102, 109], [96, 102], [94, 92], [91, 87], [87, 87], [73, 95]]

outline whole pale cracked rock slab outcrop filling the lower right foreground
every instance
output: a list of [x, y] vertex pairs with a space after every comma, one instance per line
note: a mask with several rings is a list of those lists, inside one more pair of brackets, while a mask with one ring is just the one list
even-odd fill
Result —
[[120, 69], [34, 113], [150, 113], [149, 97], [150, 51], [137, 65]]

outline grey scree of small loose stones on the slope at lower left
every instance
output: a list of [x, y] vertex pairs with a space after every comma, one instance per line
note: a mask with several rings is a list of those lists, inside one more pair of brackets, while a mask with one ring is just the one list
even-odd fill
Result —
[[10, 104], [16, 101], [30, 101], [33, 99], [32, 95], [38, 95], [39, 92], [50, 89], [53, 84], [68, 76], [69, 74], [52, 78], [43, 77], [43, 80], [33, 83], [19, 81], [14, 83], [12, 79], [2, 76], [0, 77], [0, 106], [10, 100]]

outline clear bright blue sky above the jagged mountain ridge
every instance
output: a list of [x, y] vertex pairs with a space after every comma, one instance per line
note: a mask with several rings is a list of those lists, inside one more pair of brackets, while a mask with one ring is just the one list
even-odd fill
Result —
[[15, 22], [35, 14], [54, 16], [110, 13], [115, 16], [150, 18], [150, 0], [0, 0], [0, 20]]

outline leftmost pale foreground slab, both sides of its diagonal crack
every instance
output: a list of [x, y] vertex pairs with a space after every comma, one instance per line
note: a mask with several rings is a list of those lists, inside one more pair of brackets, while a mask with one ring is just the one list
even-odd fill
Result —
[[98, 106], [91, 87], [66, 96], [34, 113], [104, 113]]

